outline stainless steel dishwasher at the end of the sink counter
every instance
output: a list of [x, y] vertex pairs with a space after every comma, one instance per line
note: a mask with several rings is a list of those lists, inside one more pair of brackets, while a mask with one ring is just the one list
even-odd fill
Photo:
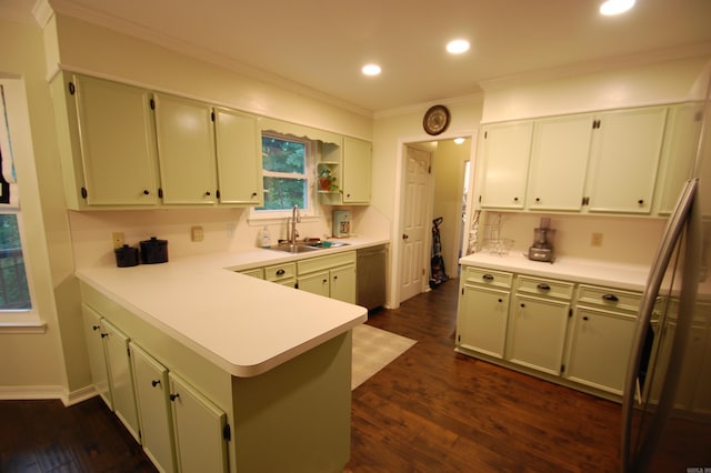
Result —
[[357, 250], [358, 305], [371, 310], [385, 304], [387, 254], [384, 244]]

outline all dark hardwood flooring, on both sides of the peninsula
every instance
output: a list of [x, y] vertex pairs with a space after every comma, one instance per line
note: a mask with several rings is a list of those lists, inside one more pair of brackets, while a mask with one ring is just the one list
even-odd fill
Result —
[[[418, 341], [353, 391], [367, 472], [618, 471], [620, 407], [453, 351], [457, 281], [369, 324]], [[0, 402], [0, 472], [154, 472], [99, 397]]]

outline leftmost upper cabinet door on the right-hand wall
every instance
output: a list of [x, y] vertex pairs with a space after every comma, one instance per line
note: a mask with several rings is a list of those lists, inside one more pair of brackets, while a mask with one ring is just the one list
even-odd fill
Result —
[[523, 209], [532, 133], [533, 122], [483, 127], [482, 208]]

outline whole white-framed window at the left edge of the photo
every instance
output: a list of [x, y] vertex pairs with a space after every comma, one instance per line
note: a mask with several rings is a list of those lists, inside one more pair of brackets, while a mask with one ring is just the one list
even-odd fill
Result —
[[0, 322], [21, 322], [32, 310], [8, 107], [20, 102], [9, 100], [18, 91], [11, 81], [0, 78]]

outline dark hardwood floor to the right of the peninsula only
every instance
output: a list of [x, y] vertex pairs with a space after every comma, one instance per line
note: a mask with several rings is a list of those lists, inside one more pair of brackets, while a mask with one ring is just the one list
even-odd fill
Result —
[[458, 280], [371, 315], [417, 340], [353, 391], [364, 472], [617, 472], [620, 405], [453, 351]]

